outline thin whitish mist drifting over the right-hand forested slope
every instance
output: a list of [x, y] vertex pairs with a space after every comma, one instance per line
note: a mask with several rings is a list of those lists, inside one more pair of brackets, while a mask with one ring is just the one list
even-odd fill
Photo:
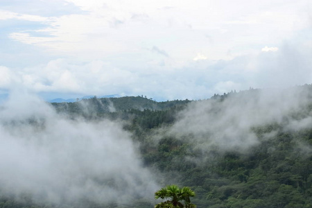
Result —
[[[272, 139], [279, 131], [311, 128], [310, 88], [250, 89], [195, 101], [180, 112], [177, 122], [164, 132], [180, 139], [187, 138], [200, 150], [246, 153], [260, 144], [261, 139]], [[259, 138], [254, 128], [266, 125], [277, 128]], [[297, 142], [298, 146], [304, 146], [305, 152], [311, 153], [311, 146]]]

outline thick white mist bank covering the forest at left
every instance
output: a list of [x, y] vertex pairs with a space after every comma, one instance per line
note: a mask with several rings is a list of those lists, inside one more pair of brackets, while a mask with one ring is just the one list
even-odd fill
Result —
[[35, 202], [125, 203], [153, 198], [155, 175], [141, 166], [121, 123], [66, 119], [31, 94], [0, 107], [0, 192]]

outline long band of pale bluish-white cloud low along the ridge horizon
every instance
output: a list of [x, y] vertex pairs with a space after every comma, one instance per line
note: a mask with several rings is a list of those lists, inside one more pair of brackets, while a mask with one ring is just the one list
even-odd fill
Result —
[[[156, 48], [154, 48], [156, 50]], [[159, 49], [159, 48], [157, 48]], [[162, 52], [161, 49], [159, 49]], [[158, 53], [155, 51], [155, 53]], [[309, 47], [285, 43], [275, 53], [242, 55], [232, 60], [175, 62], [151, 53], [127, 58], [51, 60], [34, 67], [1, 67], [3, 89], [23, 86], [37, 93], [148, 95], [158, 101], [209, 98], [236, 89], [289, 87], [312, 82]], [[296, 70], [294, 70], [296, 69]], [[51, 96], [52, 96], [51, 95]], [[69, 97], [71, 98], [71, 97]]]

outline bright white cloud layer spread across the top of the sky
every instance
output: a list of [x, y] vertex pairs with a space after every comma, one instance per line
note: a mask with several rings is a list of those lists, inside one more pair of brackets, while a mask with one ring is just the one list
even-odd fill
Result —
[[[211, 60], [229, 60], [252, 53], [254, 45], [278, 45], [293, 33], [309, 29], [310, 25], [309, 12], [302, 12], [311, 5], [305, 0], [282, 4], [252, 1], [248, 6], [245, 1], [241, 4], [232, 1], [213, 4], [139, 0], [55, 2], [60, 7], [69, 3], [80, 12], [68, 9], [63, 15], [47, 19], [44, 15], [26, 17], [8, 10], [3, 17], [20, 16], [44, 23], [39, 30], [14, 29], [10, 35], [12, 40], [42, 46], [58, 55], [78, 55], [89, 60], [138, 51], [139, 55], [153, 46], [166, 48], [166, 53], [177, 62], [189, 60], [197, 51]], [[52, 6], [51, 10], [57, 12], [56, 8]], [[24, 36], [21, 33], [25, 33]], [[209, 34], [213, 42], [207, 42], [205, 34]]]

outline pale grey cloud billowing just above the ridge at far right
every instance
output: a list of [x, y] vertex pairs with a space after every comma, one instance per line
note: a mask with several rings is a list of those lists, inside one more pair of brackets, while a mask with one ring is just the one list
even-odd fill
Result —
[[311, 83], [311, 60], [308, 58], [311, 53], [308, 47], [291, 42], [282, 44], [275, 53], [261, 53], [257, 57], [254, 83], [257, 83], [257, 87], [288, 87]]

